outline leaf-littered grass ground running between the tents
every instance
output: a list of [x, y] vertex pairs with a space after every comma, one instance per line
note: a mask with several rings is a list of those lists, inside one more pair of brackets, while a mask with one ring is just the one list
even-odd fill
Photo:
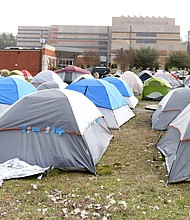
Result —
[[[149, 102], [148, 104], [155, 104]], [[0, 219], [190, 219], [189, 183], [166, 186], [164, 158], [152, 131], [146, 101], [120, 130], [97, 165], [97, 176], [54, 169], [36, 177], [5, 181]]]

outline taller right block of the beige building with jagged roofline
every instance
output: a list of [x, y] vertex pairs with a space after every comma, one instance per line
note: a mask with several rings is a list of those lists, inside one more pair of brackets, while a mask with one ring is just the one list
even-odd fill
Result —
[[160, 53], [160, 67], [164, 67], [166, 57], [174, 51], [186, 51], [181, 44], [180, 27], [174, 18], [161, 17], [113, 17], [111, 57], [119, 49], [154, 48]]

